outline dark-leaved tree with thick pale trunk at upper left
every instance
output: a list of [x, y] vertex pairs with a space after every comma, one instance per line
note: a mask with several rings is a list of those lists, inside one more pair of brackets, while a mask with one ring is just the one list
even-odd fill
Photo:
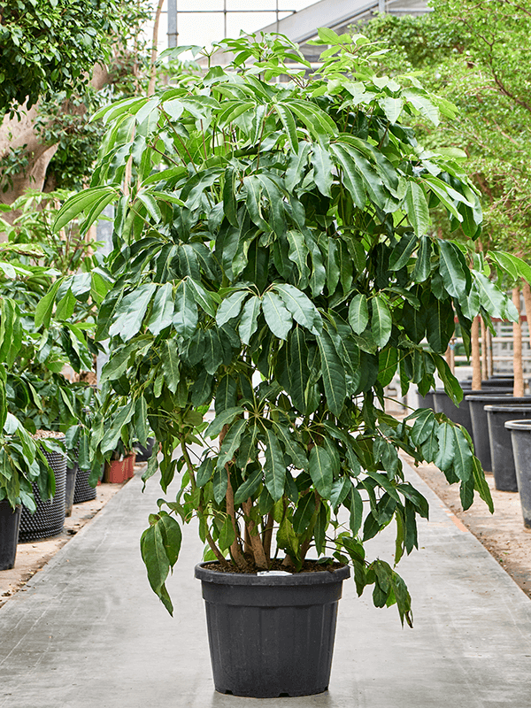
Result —
[[28, 188], [81, 188], [101, 139], [88, 115], [137, 88], [149, 17], [146, 0], [0, 0], [4, 203]]

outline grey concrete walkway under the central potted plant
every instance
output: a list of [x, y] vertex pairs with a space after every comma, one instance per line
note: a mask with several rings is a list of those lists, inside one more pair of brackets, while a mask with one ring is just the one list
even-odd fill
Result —
[[[411, 470], [410, 473], [415, 475]], [[415, 475], [416, 476], [416, 475]], [[153, 481], [152, 481], [153, 482]], [[531, 602], [419, 478], [432, 506], [420, 550], [401, 563], [414, 629], [346, 581], [330, 689], [277, 708], [524, 708], [531, 696]], [[135, 477], [0, 610], [2, 708], [248, 708], [213, 690], [187, 529], [168, 587], [151, 593], [138, 550], [158, 485]], [[392, 545], [392, 539], [387, 539]], [[373, 555], [385, 557], [385, 542]]]

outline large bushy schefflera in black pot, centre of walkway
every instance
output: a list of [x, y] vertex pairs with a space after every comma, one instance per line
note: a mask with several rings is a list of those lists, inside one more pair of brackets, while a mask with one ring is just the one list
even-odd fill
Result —
[[507, 306], [480, 258], [474, 270], [462, 242], [430, 231], [435, 206], [470, 239], [481, 230], [460, 153], [423, 150], [401, 122], [452, 109], [373, 73], [366, 38], [319, 37], [315, 73], [285, 37], [242, 37], [219, 45], [227, 68], [99, 112], [93, 185], [57, 223], [84, 213], [88, 227], [116, 203], [98, 337], [104, 386], [127, 397], [93, 449], [135, 420], [142, 440], [149, 419], [162, 488], [181, 474], [142, 535], [151, 587], [172, 612], [165, 579], [197, 517], [215, 686], [242, 696], [327, 689], [349, 567], [359, 594], [411, 624], [404, 580], [364, 550], [391, 522], [395, 562], [417, 546], [428, 507], [399, 450], [460, 481], [466, 507], [474, 491], [491, 504], [463, 428], [383, 411], [397, 372], [421, 394], [438, 372], [458, 402], [442, 356], [454, 318], [466, 336]]

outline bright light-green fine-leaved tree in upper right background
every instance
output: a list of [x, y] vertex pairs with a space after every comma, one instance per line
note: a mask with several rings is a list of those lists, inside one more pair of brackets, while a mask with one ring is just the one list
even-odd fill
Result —
[[[417, 128], [426, 144], [464, 147], [467, 169], [481, 192], [484, 224], [479, 247], [529, 258], [531, 3], [435, 0], [434, 12], [427, 16], [381, 15], [365, 31], [373, 40], [398, 48], [382, 58], [384, 71], [420, 70], [430, 89], [458, 105], [454, 120]], [[439, 229], [448, 234], [448, 220], [442, 216]], [[513, 288], [513, 300], [519, 303], [519, 274], [512, 273], [505, 284]], [[522, 289], [531, 312], [526, 281]], [[515, 327], [516, 341], [521, 332], [518, 324]], [[479, 360], [474, 371], [479, 388]], [[515, 360], [514, 372], [515, 395], [522, 395], [521, 362]]]

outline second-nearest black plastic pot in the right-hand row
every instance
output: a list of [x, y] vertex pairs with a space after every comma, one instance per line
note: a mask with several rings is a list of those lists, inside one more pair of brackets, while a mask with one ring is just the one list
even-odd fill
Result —
[[[489, 404], [485, 406], [489, 423], [490, 458], [494, 485], [498, 491], [517, 492], [518, 481], [512, 457], [511, 433], [505, 428], [508, 420], [531, 419], [531, 400], [525, 404], [512, 405], [507, 403]], [[517, 399], [520, 400], [520, 399]]]

